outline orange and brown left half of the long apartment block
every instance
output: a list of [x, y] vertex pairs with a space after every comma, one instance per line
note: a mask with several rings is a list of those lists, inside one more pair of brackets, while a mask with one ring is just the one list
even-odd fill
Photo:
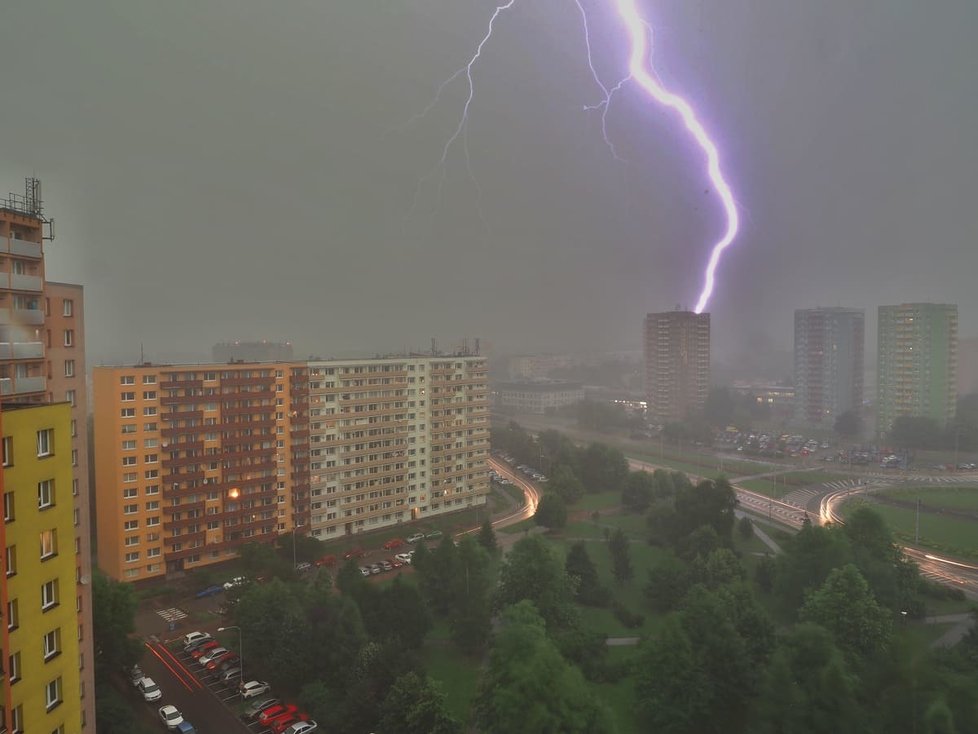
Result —
[[98, 563], [139, 581], [292, 528], [286, 364], [93, 370]]

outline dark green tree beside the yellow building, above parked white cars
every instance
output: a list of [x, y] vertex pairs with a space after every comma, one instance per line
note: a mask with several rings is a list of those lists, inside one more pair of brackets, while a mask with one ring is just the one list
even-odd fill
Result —
[[139, 661], [143, 646], [130, 637], [136, 629], [136, 597], [130, 584], [92, 575], [92, 626], [95, 670], [100, 678]]

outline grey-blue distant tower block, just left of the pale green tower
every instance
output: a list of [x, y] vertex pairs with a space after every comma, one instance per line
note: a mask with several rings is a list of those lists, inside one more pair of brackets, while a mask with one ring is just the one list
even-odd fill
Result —
[[795, 311], [795, 420], [831, 428], [863, 404], [866, 314], [852, 308]]

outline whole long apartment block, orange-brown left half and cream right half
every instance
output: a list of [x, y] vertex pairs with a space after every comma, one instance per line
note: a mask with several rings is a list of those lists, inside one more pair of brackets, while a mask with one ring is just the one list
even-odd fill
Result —
[[100, 367], [99, 566], [139, 581], [293, 531], [321, 540], [484, 504], [482, 357]]

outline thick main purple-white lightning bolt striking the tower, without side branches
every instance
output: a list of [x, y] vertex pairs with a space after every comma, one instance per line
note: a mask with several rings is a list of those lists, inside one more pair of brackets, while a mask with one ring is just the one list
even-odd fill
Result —
[[[720, 201], [723, 203], [723, 210], [727, 216], [726, 231], [723, 233], [723, 237], [720, 238], [719, 242], [713, 246], [713, 251], [710, 253], [710, 261], [706, 266], [706, 273], [703, 279], [703, 290], [700, 292], [699, 300], [696, 302], [696, 308], [693, 309], [696, 313], [702, 313], [710, 302], [710, 296], [713, 295], [714, 277], [717, 265], [720, 263], [720, 255], [723, 254], [723, 251], [733, 242], [734, 237], [737, 236], [737, 230], [740, 228], [740, 215], [737, 212], [733, 192], [730, 190], [730, 186], [727, 184], [726, 179], [723, 177], [723, 172], [720, 170], [720, 154], [717, 152], [716, 144], [710, 139], [703, 125], [696, 118], [696, 113], [689, 103], [679, 95], [673, 94], [663, 87], [651, 70], [651, 31], [648, 24], [639, 14], [635, 0], [616, 0], [616, 4], [618, 6], [618, 14], [621, 15], [625, 27], [628, 29], [628, 34], [631, 36], [632, 53], [628, 68], [631, 72], [632, 79], [642, 89], [648, 92], [656, 102], [679, 113], [683, 125], [706, 154], [707, 175], [713, 183], [713, 188], [720, 196]], [[648, 62], [646, 61], [647, 59], [649, 59]]]

